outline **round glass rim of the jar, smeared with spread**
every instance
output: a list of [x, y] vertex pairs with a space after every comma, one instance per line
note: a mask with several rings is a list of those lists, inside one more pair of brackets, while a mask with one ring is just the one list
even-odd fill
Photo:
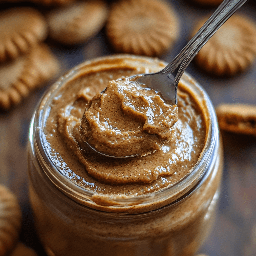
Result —
[[[202, 115], [205, 118], [206, 123], [206, 138], [205, 146], [200, 154], [199, 160], [196, 165], [191, 169], [190, 173], [180, 179], [173, 186], [167, 186], [153, 193], [137, 195], [137, 196], [112, 196], [112, 195], [101, 195], [95, 193], [91, 190], [82, 188], [81, 186], [75, 184], [72, 180], [66, 178], [54, 164], [52, 157], [47, 149], [47, 140], [44, 134], [44, 127], [46, 120], [50, 112], [50, 103], [54, 98], [58, 89], [60, 89], [69, 80], [73, 80], [83, 74], [83, 68], [90, 65], [97, 69], [99, 63], [104, 63], [104, 61], [112, 61], [116, 65], [120, 66], [120, 60], [129, 59], [134, 62], [143, 62], [145, 65], [148, 63], [157, 63], [158, 66], [164, 68], [168, 63], [158, 61], [150, 57], [140, 57], [132, 55], [113, 55], [100, 57], [93, 59], [91, 61], [86, 61], [79, 66], [71, 69], [69, 72], [64, 74], [44, 95], [38, 108], [34, 114], [34, 118], [31, 121], [30, 131], [29, 131], [29, 141], [35, 158], [38, 159], [39, 167], [44, 170], [44, 173], [48, 176], [51, 182], [57, 187], [62, 193], [67, 195], [72, 200], [89, 206], [90, 208], [101, 210], [104, 206], [104, 211], [106, 211], [106, 205], [111, 201], [111, 206], [108, 206], [109, 211], [129, 211], [130, 208], [136, 208], [143, 205], [151, 205], [150, 210], [155, 210], [157, 208], [177, 203], [185, 200], [189, 196], [199, 189], [203, 181], [208, 177], [208, 170], [212, 163], [214, 163], [214, 158], [217, 156], [216, 142], [218, 142], [219, 131], [217, 125], [217, 118], [214, 110], [214, 106], [205, 92], [205, 90], [198, 84], [198, 82], [191, 77], [188, 73], [184, 73], [181, 82], [185, 86], [192, 88], [194, 97], [199, 101], [199, 105], [202, 106]], [[101, 204], [98, 203], [97, 196], [101, 195]], [[158, 202], [155, 204], [155, 202]], [[155, 206], [153, 206], [155, 205]], [[158, 205], [158, 206], [157, 206]], [[153, 208], [152, 208], [153, 206]], [[159, 207], [160, 206], [160, 207]], [[102, 208], [103, 209], [103, 208]], [[119, 210], [118, 210], [119, 209]], [[126, 209], [126, 210], [124, 210]]]

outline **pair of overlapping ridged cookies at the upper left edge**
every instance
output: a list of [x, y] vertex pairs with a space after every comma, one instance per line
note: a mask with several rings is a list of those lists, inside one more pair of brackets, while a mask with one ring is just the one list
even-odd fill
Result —
[[59, 63], [43, 43], [48, 27], [36, 9], [4, 10], [0, 27], [0, 109], [7, 110], [55, 76]]

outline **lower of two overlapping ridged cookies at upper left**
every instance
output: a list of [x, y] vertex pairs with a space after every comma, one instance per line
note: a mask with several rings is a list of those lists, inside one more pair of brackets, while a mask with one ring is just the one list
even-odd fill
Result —
[[50, 80], [59, 71], [59, 63], [45, 44], [29, 54], [0, 65], [0, 109], [16, 105], [34, 88]]

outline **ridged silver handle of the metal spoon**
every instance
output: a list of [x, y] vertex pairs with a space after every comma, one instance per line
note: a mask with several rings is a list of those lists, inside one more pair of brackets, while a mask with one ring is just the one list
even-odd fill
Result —
[[168, 73], [169, 79], [175, 81], [176, 95], [179, 80], [189, 63], [227, 19], [246, 1], [247, 0], [224, 0], [178, 56], [161, 71], [161, 73]]

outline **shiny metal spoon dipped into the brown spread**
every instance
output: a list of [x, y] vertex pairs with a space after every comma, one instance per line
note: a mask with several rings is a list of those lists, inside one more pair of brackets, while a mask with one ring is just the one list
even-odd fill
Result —
[[[189, 63], [194, 59], [206, 42], [247, 0], [224, 0], [196, 35], [188, 42], [177, 57], [163, 70], [153, 74], [143, 74], [136, 80], [162, 94], [167, 104], [177, 105], [177, 89], [179, 80]], [[136, 76], [133, 76], [136, 77]], [[88, 144], [88, 143], [87, 143]], [[137, 155], [117, 157], [103, 154], [88, 144], [97, 153], [114, 158], [128, 158]]]

